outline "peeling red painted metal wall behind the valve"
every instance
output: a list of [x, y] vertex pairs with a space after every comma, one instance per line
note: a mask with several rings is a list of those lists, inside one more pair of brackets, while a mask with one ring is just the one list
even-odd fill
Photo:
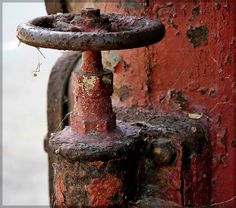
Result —
[[113, 102], [202, 113], [213, 147], [211, 203], [236, 206], [236, 1], [71, 3], [74, 11], [81, 6], [162, 20], [160, 43], [106, 54], [105, 65], [114, 67]]

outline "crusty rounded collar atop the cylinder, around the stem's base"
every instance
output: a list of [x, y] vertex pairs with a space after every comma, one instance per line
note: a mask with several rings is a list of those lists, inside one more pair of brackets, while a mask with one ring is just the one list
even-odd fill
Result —
[[[54, 154], [60, 154], [67, 160], [106, 160], [122, 157], [132, 151], [139, 142], [139, 128], [119, 122], [118, 127], [108, 133], [80, 134], [71, 127], [55, 133], [49, 146]], [[130, 145], [133, 143], [133, 145]]]

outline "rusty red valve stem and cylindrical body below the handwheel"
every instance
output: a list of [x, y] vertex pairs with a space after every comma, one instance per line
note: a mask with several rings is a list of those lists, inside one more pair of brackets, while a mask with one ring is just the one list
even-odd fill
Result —
[[136, 127], [116, 126], [113, 76], [103, 70], [101, 52], [82, 53], [72, 85], [70, 126], [49, 138], [52, 206], [124, 206], [136, 192], [140, 139]]

